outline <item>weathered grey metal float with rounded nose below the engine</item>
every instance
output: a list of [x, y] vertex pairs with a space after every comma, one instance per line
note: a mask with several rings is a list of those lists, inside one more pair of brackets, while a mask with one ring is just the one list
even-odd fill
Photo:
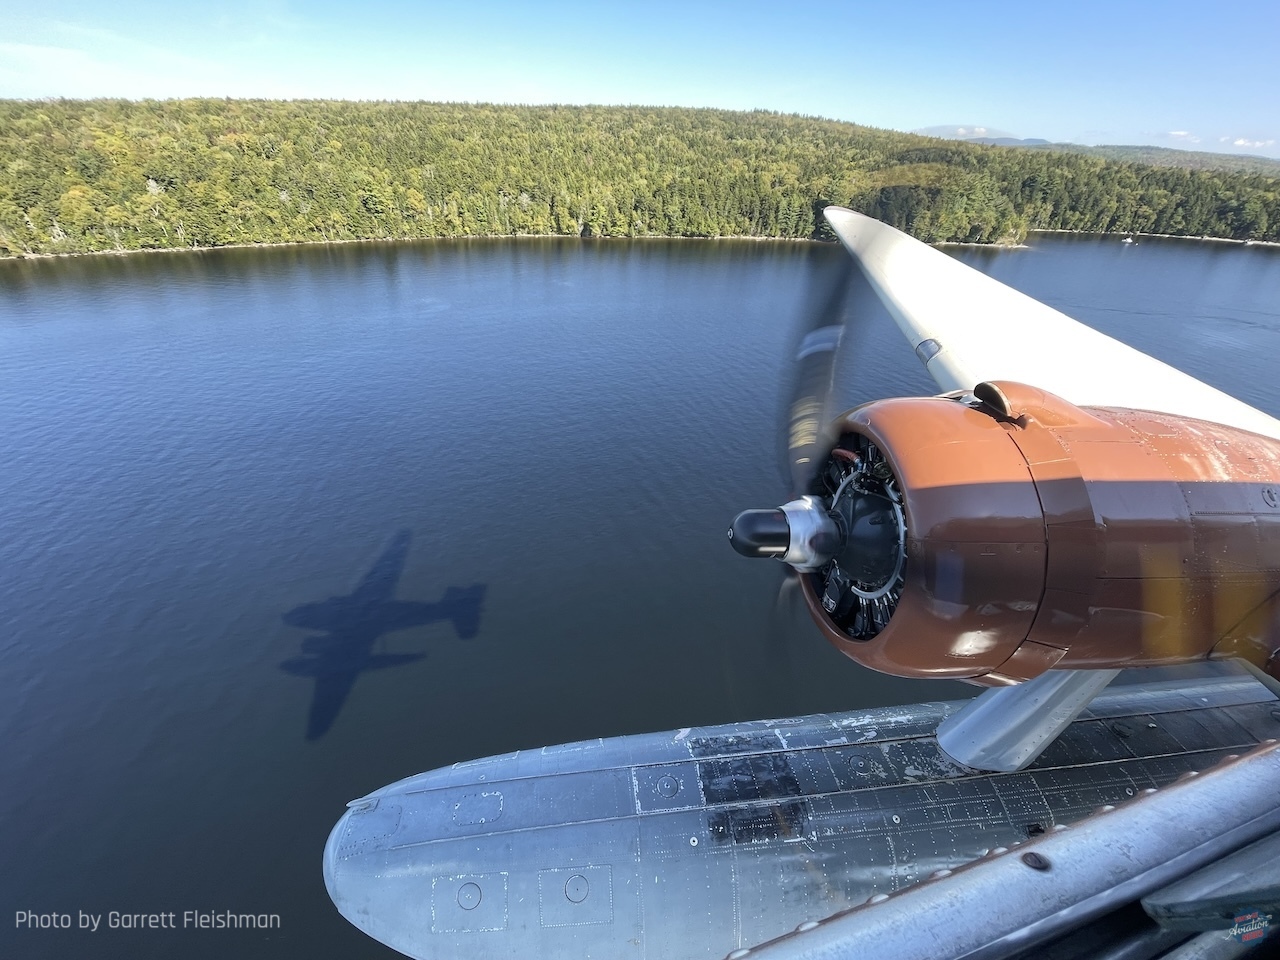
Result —
[[[1280, 700], [1265, 684], [1230, 664], [1197, 669], [1212, 675], [1105, 690], [1011, 774], [940, 751], [933, 728], [959, 704], [621, 737], [586, 751], [594, 769], [581, 750], [444, 768], [357, 803], [326, 847], [326, 884], [344, 916], [424, 960], [721, 960], [937, 870], [959, 876], [989, 849], [1052, 835], [1280, 735]], [[713, 795], [637, 806], [636, 785], [649, 783], [657, 804], [664, 776], [681, 781], [666, 800], [704, 781]], [[488, 791], [503, 795], [497, 822], [453, 820], [460, 797]], [[367, 817], [374, 801], [403, 808], [390, 836], [388, 820]], [[339, 847], [355, 852], [343, 859]], [[603, 881], [589, 870], [604, 867], [608, 920], [590, 913]], [[588, 881], [576, 904], [575, 876]], [[481, 891], [471, 909], [458, 901], [466, 883]], [[504, 927], [488, 913], [495, 902]], [[576, 906], [586, 910], [568, 913]]]

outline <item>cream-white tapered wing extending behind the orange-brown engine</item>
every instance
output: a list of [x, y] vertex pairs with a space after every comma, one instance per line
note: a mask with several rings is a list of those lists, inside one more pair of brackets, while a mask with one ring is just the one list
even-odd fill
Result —
[[844, 207], [826, 216], [943, 392], [1015, 380], [1078, 406], [1153, 410], [1280, 439], [1280, 420], [901, 230]]

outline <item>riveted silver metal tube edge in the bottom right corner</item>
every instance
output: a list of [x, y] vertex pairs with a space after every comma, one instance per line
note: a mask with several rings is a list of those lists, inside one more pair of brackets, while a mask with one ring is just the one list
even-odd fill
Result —
[[[1280, 748], [1260, 746], [1073, 829], [1048, 831], [1023, 851], [983, 858], [883, 902], [855, 906], [805, 934], [788, 932], [753, 956], [835, 960], [886, 943], [910, 957], [1019, 954], [1274, 832], [1277, 776]], [[989, 909], [993, 901], [998, 910]]]

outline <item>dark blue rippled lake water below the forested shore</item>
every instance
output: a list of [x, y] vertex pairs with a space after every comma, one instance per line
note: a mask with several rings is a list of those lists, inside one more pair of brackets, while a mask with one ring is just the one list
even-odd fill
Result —
[[[1280, 415], [1280, 251], [948, 252]], [[392, 957], [321, 881], [352, 797], [543, 744], [972, 692], [844, 659], [724, 540], [785, 494], [783, 357], [813, 257], [840, 256], [0, 262], [0, 955]], [[865, 289], [854, 307], [842, 398], [932, 393]]]

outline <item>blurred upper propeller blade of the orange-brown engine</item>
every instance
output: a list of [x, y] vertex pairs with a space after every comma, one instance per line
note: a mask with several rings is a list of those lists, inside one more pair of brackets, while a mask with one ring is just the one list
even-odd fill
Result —
[[813, 279], [800, 315], [790, 402], [783, 416], [787, 474], [794, 497], [809, 493], [831, 449], [832, 383], [845, 334], [845, 301], [854, 278], [847, 257], [832, 259], [822, 247], [813, 251], [810, 266]]

